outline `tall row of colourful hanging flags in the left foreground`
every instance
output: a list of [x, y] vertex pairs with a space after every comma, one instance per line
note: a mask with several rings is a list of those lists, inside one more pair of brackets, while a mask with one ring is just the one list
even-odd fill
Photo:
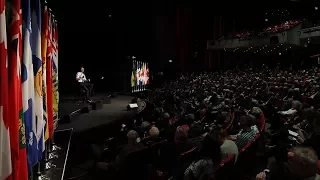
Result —
[[27, 180], [53, 137], [57, 29], [40, 0], [0, 0], [0, 180]]

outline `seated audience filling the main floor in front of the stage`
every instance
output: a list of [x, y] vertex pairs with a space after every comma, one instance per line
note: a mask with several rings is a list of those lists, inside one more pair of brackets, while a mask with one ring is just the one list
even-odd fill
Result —
[[[266, 66], [182, 75], [144, 99], [152, 112], [139, 113], [104, 147], [93, 146], [97, 174], [319, 179], [319, 75], [318, 68]], [[127, 144], [115, 145], [125, 136]]]

